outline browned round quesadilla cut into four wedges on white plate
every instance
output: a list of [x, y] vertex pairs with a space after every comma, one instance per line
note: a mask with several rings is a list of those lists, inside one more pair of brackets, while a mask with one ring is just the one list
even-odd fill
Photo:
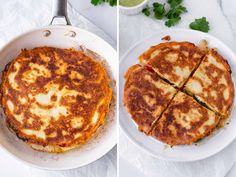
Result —
[[[224, 126], [234, 99], [231, 70], [227, 60], [209, 49], [205, 40], [199, 48], [189, 42], [161, 43], [139, 60], [144, 67], [134, 65], [125, 75], [124, 103], [141, 131], [167, 144], [180, 145], [192, 144]], [[144, 72], [156, 73], [179, 90], [155, 116], [153, 110], [159, 105], [150, 108], [150, 99], [144, 98], [152, 91], [143, 80]], [[155, 102], [165, 100], [165, 96], [154, 98]]]

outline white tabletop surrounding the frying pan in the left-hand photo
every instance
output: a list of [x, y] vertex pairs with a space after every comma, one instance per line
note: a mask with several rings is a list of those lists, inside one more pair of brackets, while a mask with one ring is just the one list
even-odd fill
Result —
[[[50, 21], [51, 1], [41, 0], [0, 0], [0, 48], [13, 37], [29, 29], [45, 26]], [[107, 5], [94, 7], [88, 0], [70, 0], [68, 13], [72, 25], [89, 30], [116, 48], [116, 9]], [[100, 11], [97, 11], [97, 8]], [[91, 19], [90, 23], [81, 15]], [[30, 15], [29, 15], [30, 14]], [[102, 20], [105, 16], [111, 19]], [[96, 23], [97, 26], [94, 26]], [[103, 31], [104, 30], [104, 31]], [[108, 34], [108, 35], [107, 35]], [[17, 161], [0, 148], [0, 171], [3, 177], [115, 177], [116, 147], [96, 162], [74, 170], [46, 171], [40, 170]], [[79, 158], [79, 157], [78, 157]]]

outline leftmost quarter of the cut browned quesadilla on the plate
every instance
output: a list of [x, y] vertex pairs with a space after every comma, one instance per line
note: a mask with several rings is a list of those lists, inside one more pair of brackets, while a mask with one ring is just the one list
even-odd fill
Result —
[[125, 77], [124, 105], [139, 130], [148, 133], [176, 90], [140, 65], [129, 68]]

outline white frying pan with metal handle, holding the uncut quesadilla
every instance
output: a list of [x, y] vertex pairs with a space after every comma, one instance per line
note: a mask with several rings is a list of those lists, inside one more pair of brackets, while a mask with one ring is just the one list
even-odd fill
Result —
[[[0, 51], [0, 72], [4, 70], [8, 62], [20, 53], [22, 48], [31, 49], [39, 46], [79, 48], [84, 46], [105, 58], [113, 79], [116, 78], [116, 66], [118, 66], [116, 51], [98, 36], [70, 26], [66, 5], [67, 0], [54, 0], [53, 17], [49, 26], [24, 33], [2, 48]], [[61, 17], [65, 19], [67, 25], [52, 25], [55, 18]], [[16, 138], [6, 127], [2, 114], [0, 118], [0, 147], [16, 159], [39, 168], [65, 170], [81, 167], [99, 159], [115, 146], [117, 130], [115, 108], [110, 111], [107, 119], [103, 127], [98, 130], [97, 135], [85, 145], [64, 154], [50, 154], [35, 151]]]

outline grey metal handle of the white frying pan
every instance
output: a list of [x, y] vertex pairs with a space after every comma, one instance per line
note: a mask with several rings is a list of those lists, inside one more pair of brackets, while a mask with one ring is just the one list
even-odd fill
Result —
[[52, 20], [50, 25], [53, 25], [56, 18], [64, 18], [66, 25], [71, 25], [67, 15], [67, 0], [53, 0]]

